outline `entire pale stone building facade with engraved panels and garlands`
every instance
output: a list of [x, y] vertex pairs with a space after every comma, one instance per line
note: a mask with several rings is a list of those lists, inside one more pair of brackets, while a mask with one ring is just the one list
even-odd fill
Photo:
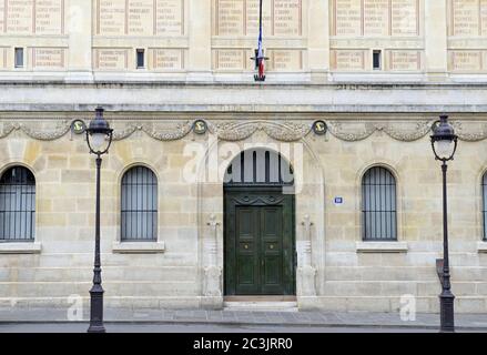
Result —
[[[105, 305], [261, 296], [437, 312], [442, 175], [429, 135], [447, 113], [459, 135], [448, 172], [456, 310], [487, 311], [487, 1], [264, 0], [262, 83], [250, 59], [257, 3], [0, 0], [1, 306], [88, 305], [95, 175], [78, 125], [101, 105], [114, 129], [101, 175]], [[267, 171], [263, 183], [225, 183], [248, 151], [278, 152], [294, 189], [277, 191]], [[138, 166], [151, 176], [141, 213], [152, 237], [124, 240]]]

